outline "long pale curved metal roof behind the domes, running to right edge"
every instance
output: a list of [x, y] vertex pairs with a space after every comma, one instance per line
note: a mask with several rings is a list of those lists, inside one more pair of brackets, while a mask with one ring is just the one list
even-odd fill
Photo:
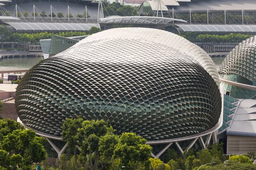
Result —
[[256, 33], [254, 25], [175, 25], [179, 32]]

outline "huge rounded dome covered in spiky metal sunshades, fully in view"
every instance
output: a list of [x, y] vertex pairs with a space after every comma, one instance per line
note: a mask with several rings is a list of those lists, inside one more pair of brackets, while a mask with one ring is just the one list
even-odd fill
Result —
[[15, 104], [26, 127], [61, 136], [67, 118], [110, 122], [148, 141], [203, 133], [221, 114], [209, 56], [176, 34], [151, 28], [99, 32], [35, 65]]

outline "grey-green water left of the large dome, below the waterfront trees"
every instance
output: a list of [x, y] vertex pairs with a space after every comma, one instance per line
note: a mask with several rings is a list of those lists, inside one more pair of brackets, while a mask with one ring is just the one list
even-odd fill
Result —
[[0, 70], [32, 68], [44, 57], [12, 57], [0, 59]]

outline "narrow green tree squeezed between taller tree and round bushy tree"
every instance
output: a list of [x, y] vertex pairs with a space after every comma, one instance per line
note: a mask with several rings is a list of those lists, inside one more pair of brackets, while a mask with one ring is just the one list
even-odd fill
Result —
[[[114, 135], [113, 133], [106, 134], [99, 138], [99, 152], [101, 162], [111, 161], [113, 169], [116, 170], [115, 162], [113, 159], [113, 153], [115, 145], [117, 144], [119, 136]], [[103, 165], [102, 165], [103, 168]]]

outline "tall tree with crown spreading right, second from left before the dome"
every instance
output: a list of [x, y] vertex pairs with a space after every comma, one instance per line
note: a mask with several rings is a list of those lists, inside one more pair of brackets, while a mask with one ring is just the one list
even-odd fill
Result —
[[108, 123], [100, 121], [84, 121], [79, 129], [81, 153], [88, 155], [88, 162], [92, 170], [97, 169], [97, 163], [100, 159], [99, 139], [108, 133], [113, 133], [113, 128], [108, 127]]

